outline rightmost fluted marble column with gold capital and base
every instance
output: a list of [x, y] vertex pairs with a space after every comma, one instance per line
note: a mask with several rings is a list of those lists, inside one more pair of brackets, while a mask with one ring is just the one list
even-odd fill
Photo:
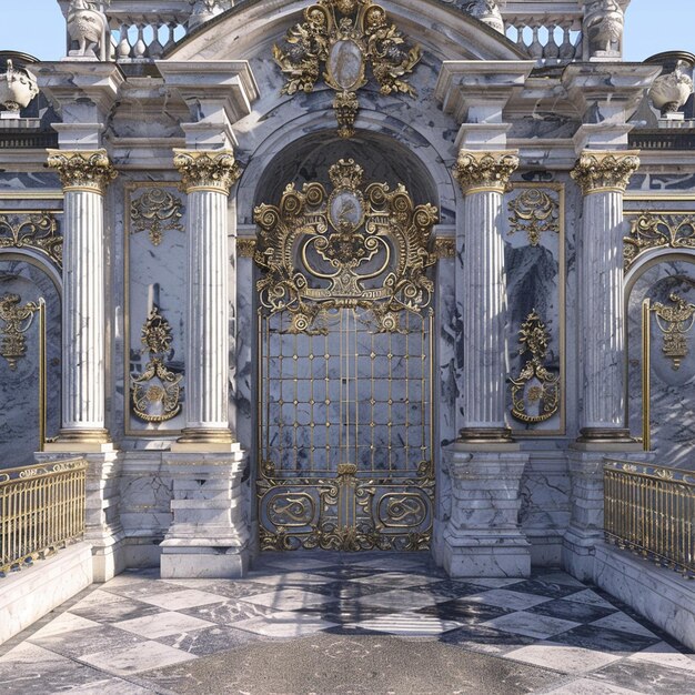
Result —
[[623, 197], [637, 152], [585, 150], [572, 178], [584, 194], [581, 345], [584, 409], [580, 442], [629, 442], [625, 423]]

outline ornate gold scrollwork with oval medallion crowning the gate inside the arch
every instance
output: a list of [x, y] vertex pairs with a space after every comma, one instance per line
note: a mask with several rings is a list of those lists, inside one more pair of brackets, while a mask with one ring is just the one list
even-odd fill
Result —
[[343, 308], [369, 309], [381, 332], [397, 331], [402, 311], [432, 300], [437, 209], [415, 205], [402, 184], [363, 187], [354, 160], [340, 160], [329, 177], [330, 194], [320, 183], [290, 184], [279, 207], [256, 208], [261, 303], [291, 312], [296, 332], [323, 332], [325, 312]]

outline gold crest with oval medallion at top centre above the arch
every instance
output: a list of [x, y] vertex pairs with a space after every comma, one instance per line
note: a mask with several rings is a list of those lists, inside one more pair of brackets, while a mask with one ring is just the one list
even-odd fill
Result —
[[286, 46], [273, 47], [273, 58], [286, 75], [283, 94], [312, 92], [323, 77], [336, 92], [339, 134], [350, 138], [360, 109], [356, 92], [369, 81], [367, 69], [382, 94], [415, 97], [404, 78], [422, 50], [407, 49], [386, 11], [372, 0], [319, 0], [304, 10], [304, 22], [289, 30]]

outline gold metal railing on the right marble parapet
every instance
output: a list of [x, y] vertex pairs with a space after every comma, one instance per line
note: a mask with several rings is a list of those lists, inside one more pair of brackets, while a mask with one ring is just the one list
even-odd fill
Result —
[[695, 473], [611, 461], [604, 467], [608, 543], [695, 578]]

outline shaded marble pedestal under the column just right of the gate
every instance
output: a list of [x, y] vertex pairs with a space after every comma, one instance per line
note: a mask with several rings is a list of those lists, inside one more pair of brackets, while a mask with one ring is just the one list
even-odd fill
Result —
[[[491, 447], [492, 450], [492, 447]], [[528, 455], [514, 445], [444, 452], [451, 480], [451, 515], [435, 532], [435, 555], [452, 577], [525, 577], [531, 546], [520, 523], [520, 486]]]

